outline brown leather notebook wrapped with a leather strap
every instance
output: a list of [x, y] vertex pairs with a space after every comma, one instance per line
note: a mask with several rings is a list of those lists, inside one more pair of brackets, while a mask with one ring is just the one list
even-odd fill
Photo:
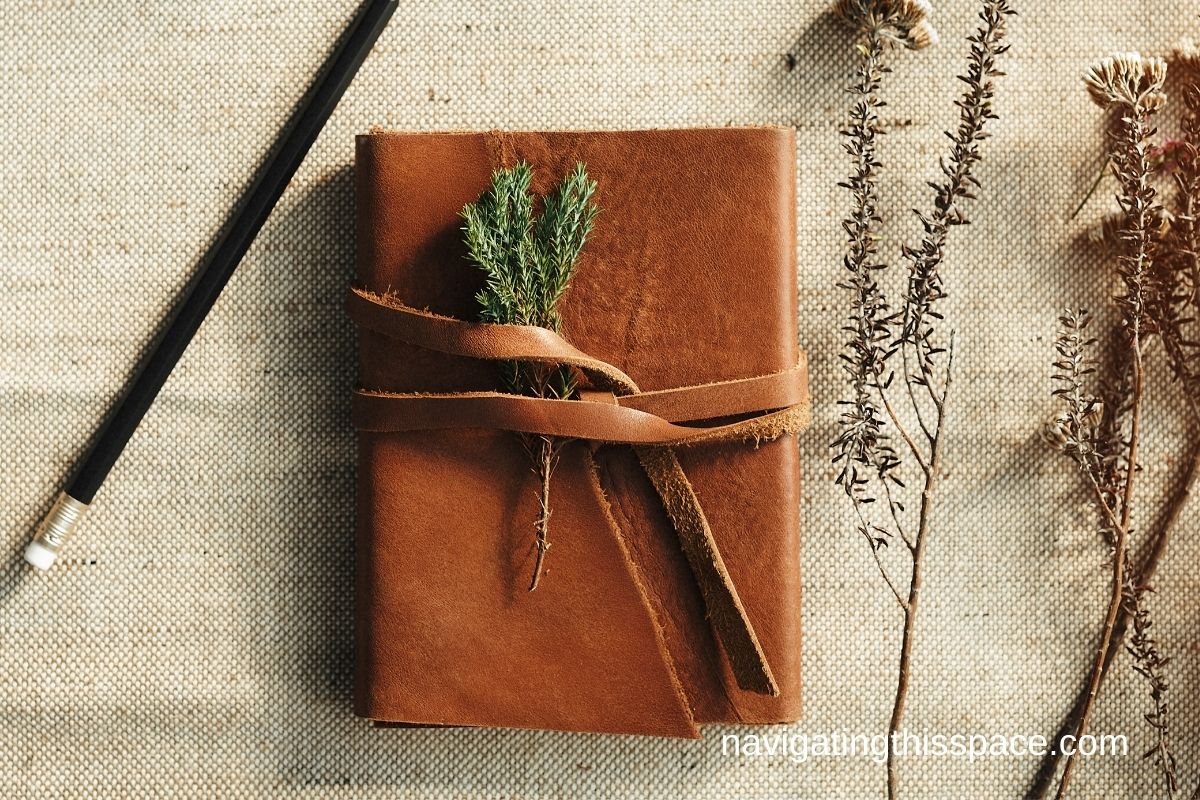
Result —
[[[505, 429], [488, 337], [520, 350], [524, 329], [454, 320], [478, 319], [482, 283], [460, 212], [517, 161], [539, 194], [576, 162], [598, 182], [562, 338], [642, 393], [584, 368], [594, 396], [527, 403]], [[356, 712], [676, 736], [798, 718], [793, 131], [376, 131], [358, 138], [356, 182]], [[766, 432], [686, 440], [781, 414]], [[552, 548], [528, 591], [536, 476], [515, 431], [558, 416], [578, 438], [553, 473]]]

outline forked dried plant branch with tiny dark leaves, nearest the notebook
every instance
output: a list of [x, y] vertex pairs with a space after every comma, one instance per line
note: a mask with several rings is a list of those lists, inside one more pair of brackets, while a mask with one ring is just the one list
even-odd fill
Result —
[[[850, 125], [842, 131], [846, 152], [853, 162], [850, 179], [841, 184], [850, 191], [852, 205], [842, 223], [847, 236], [842, 261], [846, 275], [839, 283], [851, 299], [850, 320], [844, 327], [847, 341], [841, 355], [851, 397], [841, 402], [839, 434], [832, 447], [833, 461], [840, 468], [836, 483], [846, 492], [858, 518], [858, 530], [866, 539], [904, 616], [896, 691], [888, 723], [890, 735], [898, 733], [904, 722], [924, 555], [943, 469], [954, 337], [950, 332], [946, 345], [940, 344], [946, 338], [941, 330], [942, 317], [936, 309], [946, 296], [941, 266], [949, 230], [967, 223], [962, 204], [974, 199], [979, 186], [973, 172], [986, 138], [985, 127], [996, 119], [992, 110], [995, 79], [1002, 74], [996, 62], [1008, 49], [1004, 44], [1007, 20], [1015, 12], [1007, 0], [982, 1], [979, 28], [968, 37], [967, 70], [960, 76], [967, 90], [955, 103], [959, 125], [948, 133], [950, 150], [941, 161], [942, 178], [930, 184], [932, 209], [918, 212], [924, 236], [919, 246], [901, 249], [901, 257], [908, 263], [907, 291], [902, 307], [893, 312], [878, 282], [878, 276], [887, 270], [887, 263], [877, 252], [882, 225], [876, 186], [881, 168], [878, 109], [883, 107], [880, 92], [889, 72], [884, 64], [889, 46], [916, 48], [925, 43], [926, 37], [914, 31], [932, 30], [925, 19], [929, 7], [923, 0], [841, 0], [835, 11], [858, 31], [860, 60], [858, 80], [851, 89], [856, 100]], [[888, 369], [887, 362], [896, 353], [902, 361], [900, 383], [908, 398], [907, 411], [924, 435], [920, 441], [890, 397], [896, 375]], [[893, 435], [902, 441], [900, 451], [892, 444]], [[922, 477], [919, 507], [912, 528], [904, 523], [907, 512], [898, 497], [906, 491], [900, 476], [906, 463], [914, 464]], [[887, 503], [887, 515], [876, 518], [870, 510], [878, 497]], [[907, 587], [893, 578], [881, 557], [893, 537], [905, 543], [908, 555]], [[888, 798], [894, 800], [899, 793], [899, 776], [890, 748], [887, 786]]]

